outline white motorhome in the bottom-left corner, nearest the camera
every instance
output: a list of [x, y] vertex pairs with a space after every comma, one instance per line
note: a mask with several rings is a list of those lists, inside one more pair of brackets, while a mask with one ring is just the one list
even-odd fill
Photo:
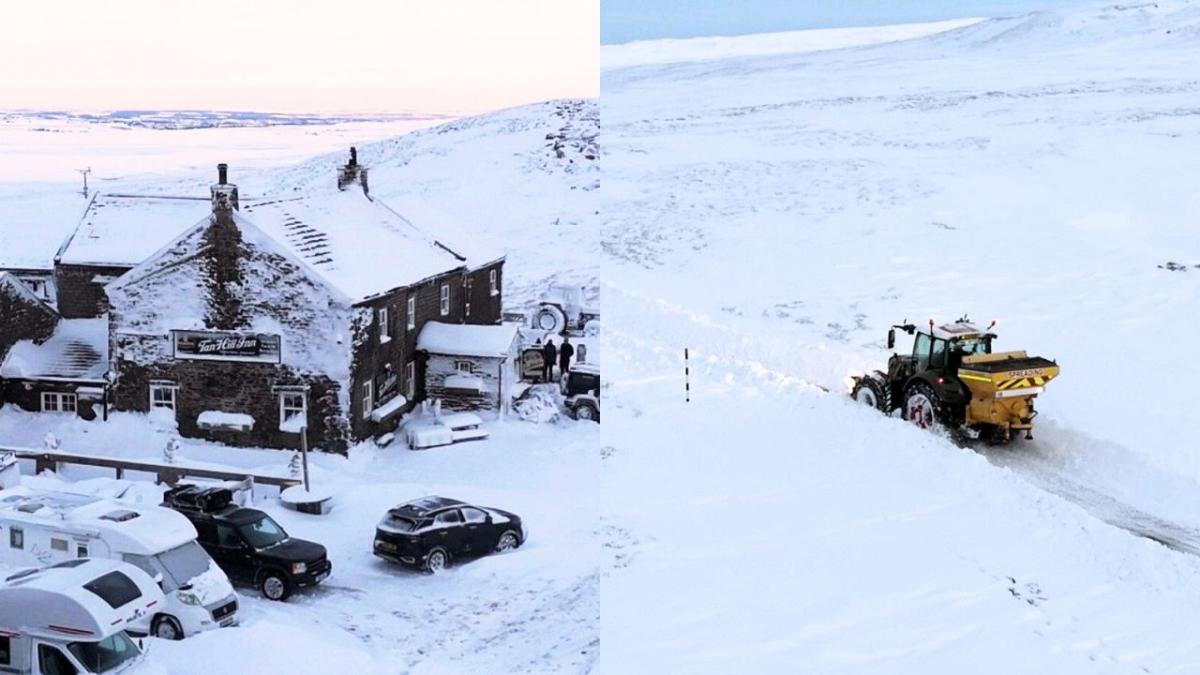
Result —
[[142, 659], [126, 631], [163, 603], [149, 574], [82, 558], [0, 581], [0, 673], [114, 674]]

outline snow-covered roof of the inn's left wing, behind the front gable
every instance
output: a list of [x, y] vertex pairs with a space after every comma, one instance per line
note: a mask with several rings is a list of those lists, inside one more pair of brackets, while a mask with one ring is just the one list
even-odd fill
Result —
[[211, 211], [208, 197], [97, 195], [58, 259], [133, 267]]

